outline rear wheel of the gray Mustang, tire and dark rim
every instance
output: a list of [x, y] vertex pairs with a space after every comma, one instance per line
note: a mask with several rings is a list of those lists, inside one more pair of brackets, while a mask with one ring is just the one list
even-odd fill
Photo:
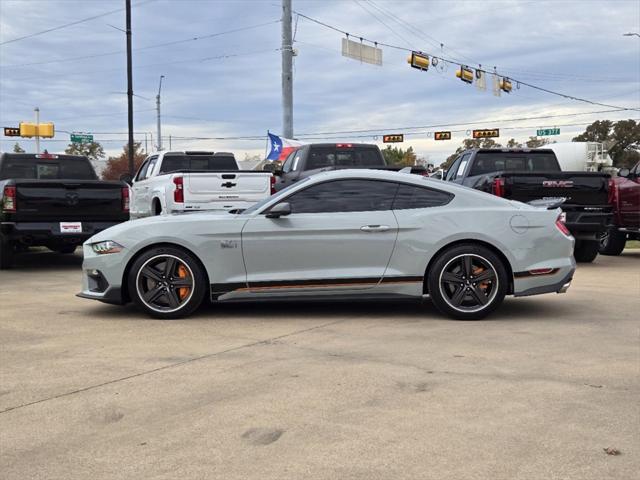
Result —
[[[480, 277], [485, 280], [477, 285], [473, 280]], [[438, 255], [427, 274], [427, 287], [431, 301], [444, 315], [458, 320], [480, 320], [502, 304], [509, 277], [495, 253], [467, 243]]]

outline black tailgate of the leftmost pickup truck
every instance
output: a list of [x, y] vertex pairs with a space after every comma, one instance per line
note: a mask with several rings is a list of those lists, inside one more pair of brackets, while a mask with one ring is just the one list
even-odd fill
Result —
[[16, 180], [16, 221], [123, 221], [120, 182]]

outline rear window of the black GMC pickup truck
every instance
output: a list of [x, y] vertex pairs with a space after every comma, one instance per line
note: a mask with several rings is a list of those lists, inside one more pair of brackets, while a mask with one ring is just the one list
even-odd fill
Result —
[[478, 152], [469, 176], [500, 171], [559, 171], [555, 154], [549, 152]]

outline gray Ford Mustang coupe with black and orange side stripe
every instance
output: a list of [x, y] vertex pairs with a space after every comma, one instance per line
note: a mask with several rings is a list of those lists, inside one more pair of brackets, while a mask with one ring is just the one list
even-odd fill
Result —
[[206, 297], [428, 295], [450, 317], [480, 319], [505, 295], [565, 292], [573, 243], [559, 209], [407, 173], [341, 170], [241, 213], [158, 216], [104, 230], [84, 244], [79, 296], [178, 318]]

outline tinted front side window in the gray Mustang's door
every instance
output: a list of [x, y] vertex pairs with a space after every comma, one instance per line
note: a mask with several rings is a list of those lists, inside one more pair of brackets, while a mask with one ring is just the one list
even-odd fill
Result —
[[336, 180], [313, 185], [284, 201], [292, 213], [391, 210], [398, 184], [375, 180]]

